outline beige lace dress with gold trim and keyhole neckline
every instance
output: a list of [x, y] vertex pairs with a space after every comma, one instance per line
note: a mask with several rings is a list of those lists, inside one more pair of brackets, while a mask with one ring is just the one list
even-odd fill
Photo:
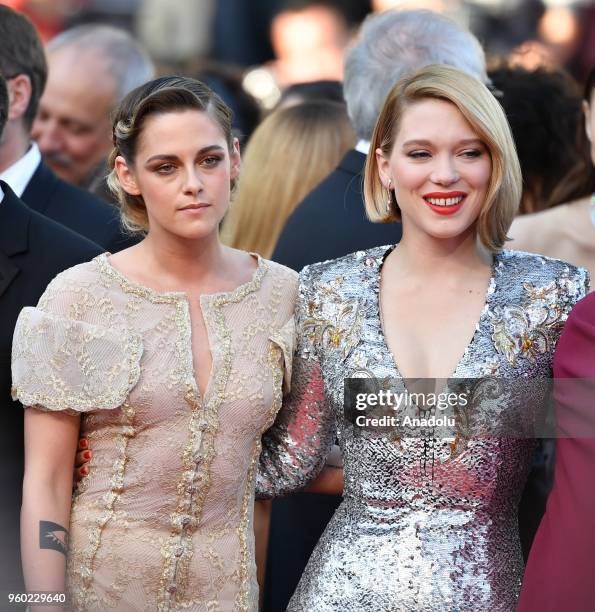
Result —
[[250, 282], [200, 296], [204, 398], [187, 296], [128, 281], [107, 254], [22, 311], [14, 398], [83, 413], [93, 449], [70, 520], [75, 609], [257, 610], [255, 469], [288, 386], [296, 292], [295, 272], [261, 259]]

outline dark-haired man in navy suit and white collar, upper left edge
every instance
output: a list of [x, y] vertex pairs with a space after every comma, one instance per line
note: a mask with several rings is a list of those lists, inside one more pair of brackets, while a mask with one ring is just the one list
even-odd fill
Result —
[[30, 130], [47, 78], [41, 41], [31, 22], [0, 5], [0, 74], [10, 92], [0, 142], [0, 179], [29, 207], [116, 252], [136, 242], [123, 233], [118, 210], [58, 178], [41, 160]]

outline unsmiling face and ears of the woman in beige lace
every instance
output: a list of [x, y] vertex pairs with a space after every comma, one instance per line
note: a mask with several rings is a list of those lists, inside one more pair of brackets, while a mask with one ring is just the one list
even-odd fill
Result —
[[133, 165], [115, 161], [122, 188], [143, 198], [149, 233], [190, 240], [217, 236], [239, 166], [237, 140], [230, 151], [217, 122], [192, 109], [148, 116]]

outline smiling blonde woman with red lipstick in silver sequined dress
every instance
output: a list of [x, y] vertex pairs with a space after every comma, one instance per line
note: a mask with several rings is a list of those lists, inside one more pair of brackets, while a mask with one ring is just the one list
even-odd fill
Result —
[[502, 250], [521, 195], [512, 135], [488, 89], [454, 68], [391, 90], [364, 189], [369, 217], [401, 220], [402, 239], [301, 272], [291, 395], [263, 439], [263, 495], [303, 486], [335, 436], [343, 454], [344, 500], [288, 609], [512, 610], [533, 440], [362, 431], [344, 381], [391, 377], [403, 393], [408, 379], [489, 375], [521, 379], [514, 397], [551, 375], [587, 273]]

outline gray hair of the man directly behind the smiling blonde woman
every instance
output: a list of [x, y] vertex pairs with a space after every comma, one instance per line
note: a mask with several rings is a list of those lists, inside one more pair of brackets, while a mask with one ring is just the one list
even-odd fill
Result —
[[446, 64], [488, 83], [485, 55], [471, 32], [427, 10], [368, 17], [345, 58], [343, 95], [359, 138], [370, 140], [388, 92], [405, 74]]

